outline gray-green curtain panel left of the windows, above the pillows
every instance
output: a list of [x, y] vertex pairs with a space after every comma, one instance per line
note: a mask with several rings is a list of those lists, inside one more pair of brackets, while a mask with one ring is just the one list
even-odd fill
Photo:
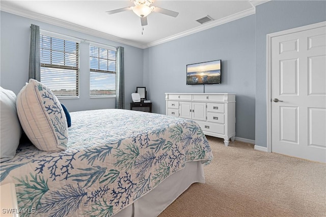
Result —
[[29, 80], [41, 81], [40, 26], [31, 24]]

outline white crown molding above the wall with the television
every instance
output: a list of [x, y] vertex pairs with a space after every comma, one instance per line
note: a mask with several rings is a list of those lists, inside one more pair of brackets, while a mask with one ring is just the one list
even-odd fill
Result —
[[251, 8], [251, 9], [248, 9], [246, 11], [241, 11], [239, 13], [230, 15], [228, 17], [224, 17], [224, 18], [219, 19], [219, 20], [214, 20], [214, 21], [208, 22], [206, 24], [203, 24], [201, 26], [186, 30], [186, 31], [184, 31], [182, 33], [173, 35], [171, 37], [167, 37], [167, 38], [164, 38], [164, 39], [160, 39], [160, 40], [148, 43], [143, 48], [149, 48], [149, 47], [159, 45], [159, 44], [162, 44], [162, 43], [166, 43], [166, 42], [178, 39], [178, 38], [182, 38], [184, 36], [192, 35], [194, 33], [198, 33], [198, 32], [201, 32], [203, 30], [206, 30], [206, 29], [218, 26], [218, 25], [222, 25], [222, 24], [225, 24], [227, 22], [231, 22], [231, 21], [234, 21], [234, 20], [249, 16], [249, 15], [252, 15], [252, 14], [255, 14], [255, 13], [256, 13], [255, 8]]

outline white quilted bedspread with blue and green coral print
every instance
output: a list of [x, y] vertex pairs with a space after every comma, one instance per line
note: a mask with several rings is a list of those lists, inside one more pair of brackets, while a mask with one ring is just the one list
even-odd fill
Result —
[[67, 150], [26, 145], [1, 163], [1, 184], [15, 183], [20, 216], [111, 216], [187, 161], [213, 158], [192, 120], [120, 109], [70, 115]]

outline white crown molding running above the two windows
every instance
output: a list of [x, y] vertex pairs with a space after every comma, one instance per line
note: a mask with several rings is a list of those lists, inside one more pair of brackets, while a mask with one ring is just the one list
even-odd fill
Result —
[[107, 39], [107, 40], [111, 40], [111, 41], [114, 41], [114, 42], [119, 42], [119, 43], [122, 43], [122, 44], [125, 44], [125, 45], [130, 45], [130, 46], [133, 46], [133, 47], [138, 47], [138, 48], [143, 49], [142, 44], [134, 43], [134, 42], [129, 41], [129, 40], [125, 40], [125, 39], [122, 39], [122, 38], [119, 38], [119, 37], [116, 37], [116, 36], [112, 36], [110, 34], [102, 33], [102, 32], [99, 32], [97, 30], [87, 28], [87, 27], [84, 27], [84, 26], [81, 26], [81, 25], [77, 25], [77, 24], [74, 24], [74, 23], [71, 23], [71, 22], [67, 22], [67, 21], [64, 21], [64, 20], [61, 20], [61, 19], [56, 19], [56, 18], [53, 18], [53, 17], [49, 17], [49, 16], [45, 16], [45, 15], [41, 15], [41, 14], [33, 13], [33, 12], [26, 12], [26, 11], [23, 11], [23, 10], [20, 10], [20, 9], [17, 9], [17, 8], [10, 7], [10, 6], [6, 5], [5, 2], [1, 2], [0, 10], [4, 11], [4, 12], [11, 13], [11, 14], [15, 14], [15, 15], [18, 15], [18, 16], [22, 16], [22, 17], [34, 19], [34, 20], [37, 20], [37, 21], [45, 22], [45, 23], [48, 23], [48, 24], [57, 25], [57, 26], [60, 26], [60, 27], [75, 30], [75, 31], [80, 32], [80, 33], [85, 33], [85, 34], [96, 36], [96, 37], [99, 37], [99, 38], [102, 38], [102, 39]]

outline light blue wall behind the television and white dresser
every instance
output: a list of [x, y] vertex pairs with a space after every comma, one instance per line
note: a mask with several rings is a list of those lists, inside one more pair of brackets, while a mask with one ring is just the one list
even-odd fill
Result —
[[255, 15], [144, 51], [144, 85], [153, 111], [166, 113], [165, 92], [203, 92], [186, 85], [186, 65], [222, 59], [222, 84], [205, 92], [236, 94], [236, 136], [255, 139]]

